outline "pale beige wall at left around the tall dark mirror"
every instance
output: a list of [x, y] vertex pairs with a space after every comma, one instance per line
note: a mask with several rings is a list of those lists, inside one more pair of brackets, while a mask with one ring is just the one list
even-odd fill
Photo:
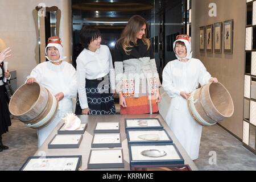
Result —
[[64, 53], [71, 61], [71, 0], [0, 0], [0, 38], [11, 47], [9, 69], [17, 71], [18, 86], [39, 63], [39, 48], [32, 11], [39, 3], [47, 7], [57, 6], [61, 10], [60, 37]]

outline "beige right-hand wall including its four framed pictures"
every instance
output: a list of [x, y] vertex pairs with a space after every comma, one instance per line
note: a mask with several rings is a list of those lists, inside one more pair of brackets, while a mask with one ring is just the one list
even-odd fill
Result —
[[[193, 57], [200, 59], [207, 71], [229, 90], [235, 112], [233, 117], [219, 124], [242, 142], [246, 1], [214, 1], [216, 16], [210, 16], [210, 3], [213, 2], [192, 1]], [[248, 72], [250, 68], [246, 70]]]

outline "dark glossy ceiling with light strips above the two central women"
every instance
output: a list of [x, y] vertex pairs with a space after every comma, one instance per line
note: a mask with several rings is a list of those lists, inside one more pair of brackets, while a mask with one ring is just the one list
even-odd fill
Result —
[[97, 24], [122, 28], [135, 14], [147, 21], [183, 0], [72, 0], [73, 24]]

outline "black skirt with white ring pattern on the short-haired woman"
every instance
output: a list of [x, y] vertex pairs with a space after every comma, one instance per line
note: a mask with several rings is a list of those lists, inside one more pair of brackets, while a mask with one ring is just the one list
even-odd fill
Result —
[[[114, 96], [111, 93], [109, 76], [85, 82], [88, 107], [91, 115], [115, 114]], [[76, 115], [82, 114], [82, 109], [77, 96]]]

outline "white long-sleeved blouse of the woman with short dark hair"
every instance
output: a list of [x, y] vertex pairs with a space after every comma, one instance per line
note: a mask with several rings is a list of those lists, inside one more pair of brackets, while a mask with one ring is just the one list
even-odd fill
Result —
[[84, 49], [77, 57], [76, 63], [79, 102], [82, 109], [88, 108], [85, 78], [94, 80], [110, 74], [111, 89], [115, 90], [114, 67], [108, 46], [101, 45], [96, 52]]

